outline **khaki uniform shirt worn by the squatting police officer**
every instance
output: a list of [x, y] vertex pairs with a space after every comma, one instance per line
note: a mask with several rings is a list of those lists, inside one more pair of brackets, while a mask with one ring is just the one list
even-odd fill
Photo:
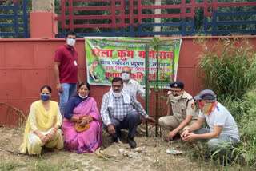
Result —
[[194, 99], [189, 93], [184, 91], [182, 97], [178, 101], [174, 99], [172, 93], [168, 94], [170, 95], [166, 104], [171, 105], [172, 113], [178, 121], [184, 121], [186, 116], [192, 116], [192, 120], [197, 120], [198, 115], [195, 112]]

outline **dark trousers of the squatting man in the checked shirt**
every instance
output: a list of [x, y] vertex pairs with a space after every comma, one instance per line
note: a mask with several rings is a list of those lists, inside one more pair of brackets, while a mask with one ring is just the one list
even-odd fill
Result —
[[[110, 121], [111, 121], [111, 124], [114, 126], [115, 133], [112, 135], [112, 137], [114, 137], [115, 140], [117, 140], [118, 137], [120, 137], [121, 129], [129, 129], [128, 137], [133, 139], [135, 134], [135, 129], [138, 126], [139, 115], [136, 111], [132, 111], [128, 113], [122, 121], [119, 121], [114, 117], [110, 117]], [[106, 130], [106, 132], [108, 132], [107, 125], [104, 124], [103, 127]]]

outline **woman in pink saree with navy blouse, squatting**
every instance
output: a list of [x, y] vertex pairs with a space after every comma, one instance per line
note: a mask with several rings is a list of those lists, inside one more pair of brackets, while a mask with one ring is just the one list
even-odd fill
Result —
[[89, 94], [90, 85], [82, 82], [78, 96], [70, 97], [64, 113], [65, 147], [77, 153], [94, 153], [102, 145], [102, 119]]

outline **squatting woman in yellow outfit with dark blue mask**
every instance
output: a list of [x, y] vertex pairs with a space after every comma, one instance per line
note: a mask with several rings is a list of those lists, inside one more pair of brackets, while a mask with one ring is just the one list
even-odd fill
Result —
[[26, 122], [22, 153], [40, 154], [42, 146], [58, 150], [63, 148], [62, 115], [58, 103], [50, 101], [50, 86], [44, 85], [41, 89], [40, 101], [30, 106], [30, 114]]

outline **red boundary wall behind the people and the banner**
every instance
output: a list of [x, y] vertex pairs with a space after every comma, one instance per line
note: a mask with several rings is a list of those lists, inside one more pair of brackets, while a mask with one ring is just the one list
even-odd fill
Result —
[[[212, 46], [218, 38], [212, 38], [209, 46]], [[250, 37], [252, 45], [256, 45], [256, 37]], [[21, 109], [28, 115], [30, 104], [39, 99], [39, 91], [42, 85], [50, 85], [53, 89], [52, 100], [59, 101], [54, 82], [54, 53], [58, 46], [65, 43], [64, 39], [0, 39], [0, 103], [4, 102]], [[84, 39], [78, 39], [75, 45], [78, 50], [78, 67], [82, 81], [86, 81], [86, 56]], [[256, 46], [254, 46], [256, 50]], [[178, 62], [178, 81], [185, 83], [188, 93], [195, 95], [202, 89], [198, 78], [197, 65], [198, 54], [202, 46], [195, 44], [193, 38], [182, 38], [182, 47]], [[102, 95], [110, 89], [109, 86], [92, 85], [92, 97], [98, 103], [98, 109], [102, 102]], [[154, 90], [151, 89], [150, 114], [154, 115]], [[166, 89], [163, 95], [166, 95]], [[141, 101], [144, 105], [144, 101]], [[165, 105], [166, 101], [162, 101]], [[9, 109], [6, 105], [0, 105], [0, 125], [16, 123], [17, 117], [9, 119]], [[163, 110], [165, 112], [165, 109]]]

